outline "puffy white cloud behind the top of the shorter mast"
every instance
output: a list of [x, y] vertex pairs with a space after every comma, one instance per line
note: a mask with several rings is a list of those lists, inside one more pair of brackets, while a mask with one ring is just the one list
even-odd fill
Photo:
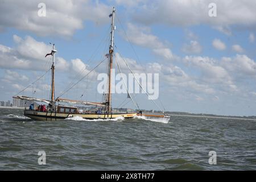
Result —
[[[13, 48], [0, 45], [0, 67], [30, 69], [35, 71], [45, 71], [49, 58], [44, 57], [51, 52], [52, 47], [43, 42], [38, 42], [31, 36], [20, 38], [13, 36], [15, 46]], [[68, 63], [61, 57], [56, 57], [56, 68], [64, 71]]]

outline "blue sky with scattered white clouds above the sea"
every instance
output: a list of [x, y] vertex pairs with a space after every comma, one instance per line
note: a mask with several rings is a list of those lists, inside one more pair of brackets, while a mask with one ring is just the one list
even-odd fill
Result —
[[[57, 49], [55, 96], [84, 77], [108, 53], [113, 6], [118, 63], [126, 74], [122, 58], [135, 73], [159, 74], [160, 107], [256, 115], [256, 1], [250, 0], [0, 0], [0, 100], [12, 100], [46, 73], [49, 42]], [[64, 97], [101, 101], [97, 75], [105, 68], [100, 65]], [[49, 98], [50, 77], [22, 94]], [[141, 109], [159, 110], [145, 94], [131, 96]], [[123, 106], [126, 97], [113, 94], [113, 106]]]

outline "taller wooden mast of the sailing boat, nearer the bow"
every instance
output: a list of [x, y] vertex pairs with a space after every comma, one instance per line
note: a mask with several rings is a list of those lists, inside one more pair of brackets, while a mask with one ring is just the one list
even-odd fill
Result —
[[114, 18], [115, 18], [115, 7], [113, 7], [113, 11], [112, 11], [111, 44], [109, 46], [109, 92], [108, 92], [108, 99], [107, 99], [108, 113], [112, 112], [112, 108], [111, 108], [111, 75], [112, 75], [113, 53], [114, 53], [114, 29], [115, 29]]

